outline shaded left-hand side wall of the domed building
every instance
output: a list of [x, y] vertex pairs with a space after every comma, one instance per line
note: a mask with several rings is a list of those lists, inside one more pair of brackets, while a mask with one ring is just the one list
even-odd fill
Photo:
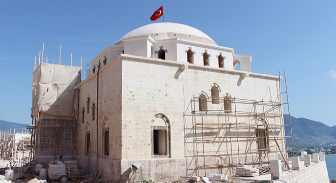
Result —
[[[77, 127], [77, 149], [79, 156], [86, 155], [86, 133], [90, 131], [90, 156], [97, 155], [97, 117], [98, 117], [98, 157], [121, 159], [121, 62], [108, 63], [99, 71], [99, 103], [97, 103], [97, 74], [80, 84], [79, 118]], [[90, 96], [90, 109], [87, 113], [87, 97]], [[92, 120], [92, 104], [95, 102], [95, 120]], [[82, 123], [82, 108], [85, 120]], [[104, 130], [109, 128], [109, 156], [104, 156]]]

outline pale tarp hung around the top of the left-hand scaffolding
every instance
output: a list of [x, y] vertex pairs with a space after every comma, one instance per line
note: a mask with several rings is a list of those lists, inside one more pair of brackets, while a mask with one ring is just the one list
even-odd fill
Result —
[[41, 64], [33, 73], [33, 117], [38, 112], [74, 116], [75, 86], [80, 79], [81, 67]]

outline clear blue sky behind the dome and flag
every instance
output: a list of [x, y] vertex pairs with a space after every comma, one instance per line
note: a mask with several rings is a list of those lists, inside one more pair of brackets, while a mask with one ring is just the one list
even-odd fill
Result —
[[[133, 29], [182, 23], [218, 45], [251, 54], [251, 70], [286, 71], [290, 114], [336, 126], [336, 1], [3, 1], [0, 0], [0, 119], [30, 124], [34, 58], [83, 69]], [[162, 22], [162, 17], [155, 22]], [[85, 75], [85, 74], [83, 74]], [[284, 80], [282, 80], [284, 83]], [[284, 85], [282, 85], [284, 89]]]

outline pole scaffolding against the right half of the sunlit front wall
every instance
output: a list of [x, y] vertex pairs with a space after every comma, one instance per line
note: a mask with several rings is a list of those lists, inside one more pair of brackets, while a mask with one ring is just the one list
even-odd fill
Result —
[[[234, 174], [237, 165], [268, 166], [278, 155], [284, 169], [289, 169], [288, 150], [293, 151], [291, 121], [284, 123], [283, 107], [288, 106], [288, 92], [281, 92], [280, 73], [278, 96], [275, 101], [225, 97], [193, 97], [192, 115], [195, 142], [196, 174], [207, 174], [207, 169], [226, 169]], [[286, 102], [281, 96], [286, 94]], [[208, 107], [216, 104], [217, 108]], [[218, 105], [219, 104], [219, 105]], [[290, 127], [286, 136], [285, 127]], [[286, 147], [286, 138], [292, 147]], [[270, 158], [270, 156], [273, 156]], [[218, 172], [218, 171], [217, 171]]]

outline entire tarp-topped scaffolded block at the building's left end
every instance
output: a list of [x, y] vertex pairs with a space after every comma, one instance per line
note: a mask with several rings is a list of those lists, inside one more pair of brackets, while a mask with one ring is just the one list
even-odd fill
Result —
[[29, 149], [34, 159], [50, 162], [76, 154], [76, 122], [81, 67], [39, 63], [33, 73]]

